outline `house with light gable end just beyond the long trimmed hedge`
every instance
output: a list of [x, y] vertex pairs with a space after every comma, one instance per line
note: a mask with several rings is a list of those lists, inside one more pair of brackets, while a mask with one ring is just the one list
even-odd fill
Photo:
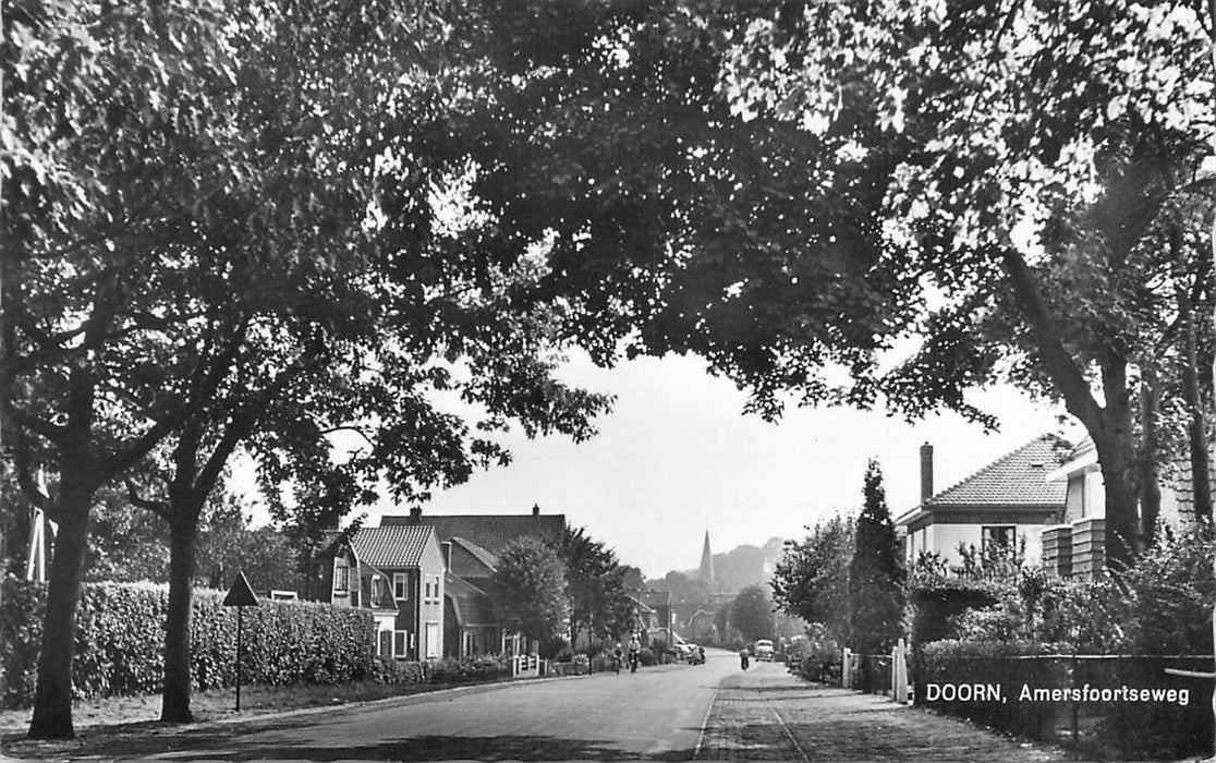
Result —
[[377, 655], [434, 660], [444, 655], [444, 557], [427, 526], [361, 527], [338, 538], [330, 602], [371, 610]]

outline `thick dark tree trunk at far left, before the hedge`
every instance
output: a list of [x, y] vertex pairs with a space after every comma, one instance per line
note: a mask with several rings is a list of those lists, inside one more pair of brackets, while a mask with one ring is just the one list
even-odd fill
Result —
[[[64, 461], [64, 466], [72, 466]], [[72, 739], [72, 656], [77, 604], [89, 535], [89, 505], [95, 486], [85, 472], [64, 469], [60, 482], [60, 532], [46, 591], [43, 645], [38, 656], [38, 683], [29, 739]], [[92, 489], [90, 489], [92, 486]]]

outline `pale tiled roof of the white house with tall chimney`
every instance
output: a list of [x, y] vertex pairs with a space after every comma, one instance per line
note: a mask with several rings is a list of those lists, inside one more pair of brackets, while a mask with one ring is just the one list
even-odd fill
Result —
[[1071, 445], [1057, 434], [1041, 434], [1001, 456], [970, 477], [946, 488], [919, 509], [957, 506], [1063, 506], [1066, 486], [1047, 477]]

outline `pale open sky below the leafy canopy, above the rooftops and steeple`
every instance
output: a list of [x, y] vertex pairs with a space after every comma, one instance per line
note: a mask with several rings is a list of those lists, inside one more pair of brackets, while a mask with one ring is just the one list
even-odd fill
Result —
[[[696, 568], [709, 531], [715, 551], [794, 538], [835, 511], [856, 514], [871, 456], [899, 516], [918, 503], [919, 445], [935, 448], [941, 490], [1001, 455], [1062, 428], [1053, 409], [1012, 389], [980, 393], [1001, 431], [941, 415], [916, 426], [844, 409], [789, 410], [776, 425], [742, 414], [745, 395], [697, 358], [640, 359], [602, 370], [575, 358], [563, 378], [618, 395], [599, 434], [513, 441], [514, 462], [438, 493], [424, 512], [523, 514], [539, 505], [617, 550], [649, 578]], [[379, 506], [383, 511], [406, 507]]]

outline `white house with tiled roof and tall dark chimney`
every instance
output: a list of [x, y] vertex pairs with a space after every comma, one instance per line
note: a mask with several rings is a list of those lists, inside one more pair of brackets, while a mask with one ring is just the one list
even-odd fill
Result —
[[1064, 515], [1064, 486], [1049, 482], [1070, 450], [1042, 434], [945, 490], [933, 489], [933, 445], [921, 447], [921, 504], [895, 520], [906, 557], [940, 554], [962, 561], [959, 546], [1025, 549], [1026, 563], [1042, 559], [1042, 532]]

